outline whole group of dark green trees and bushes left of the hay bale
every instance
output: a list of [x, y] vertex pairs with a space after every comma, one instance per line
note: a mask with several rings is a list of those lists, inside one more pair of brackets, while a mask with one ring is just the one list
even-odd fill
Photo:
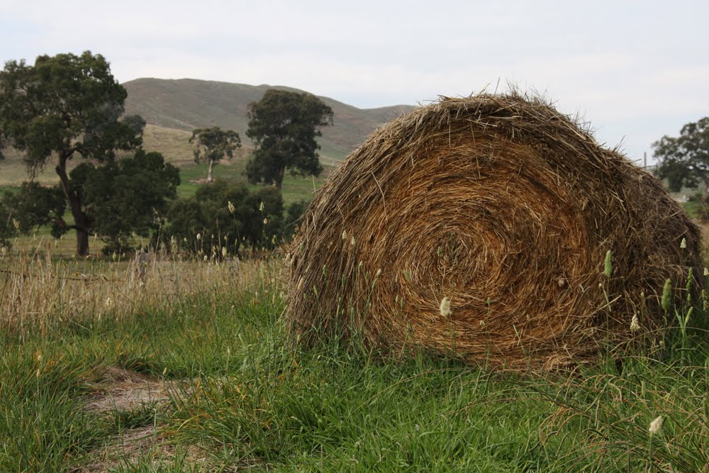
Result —
[[[256, 149], [247, 178], [275, 184], [256, 191], [214, 182], [214, 166], [233, 157], [239, 134], [195, 129], [189, 142], [196, 162], [209, 163], [209, 184], [177, 199], [179, 169], [143, 150], [145, 121], [125, 116], [126, 96], [106, 59], [90, 51], [43, 55], [34, 65], [6, 62], [0, 71], [0, 159], [6, 145], [22, 152], [30, 179], [0, 199], [0, 246], [13, 235], [48, 227], [56, 238], [75, 230], [79, 256], [88, 255], [89, 235], [96, 235], [104, 252], [128, 250], [140, 237], [221, 257], [244, 247], [270, 249], [293, 235], [306, 203], [284, 206], [284, 173], [322, 171], [316, 138], [333, 121], [323, 101], [269, 90], [249, 105], [246, 133]], [[74, 159], [79, 164], [69, 165]], [[55, 186], [34, 180], [48, 165], [57, 174]]]

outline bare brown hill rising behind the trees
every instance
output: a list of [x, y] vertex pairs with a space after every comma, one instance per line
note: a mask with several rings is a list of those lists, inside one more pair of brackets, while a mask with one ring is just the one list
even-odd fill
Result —
[[[128, 91], [126, 113], [138, 113], [147, 123], [162, 128], [191, 131], [194, 128], [220, 126], [237, 131], [247, 140], [247, 107], [258, 101], [268, 89], [298, 91], [290, 87], [196, 79], [135, 79], [123, 84]], [[320, 155], [325, 160], [340, 161], [367, 138], [375, 128], [413, 106], [398, 105], [360, 109], [321, 96], [333, 108], [333, 126], [323, 130]], [[246, 143], [247, 145], [249, 143]]]

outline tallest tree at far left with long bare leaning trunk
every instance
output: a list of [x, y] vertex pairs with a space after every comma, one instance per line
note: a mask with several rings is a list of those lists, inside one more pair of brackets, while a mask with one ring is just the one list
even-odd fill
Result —
[[116, 150], [140, 146], [145, 121], [121, 120], [127, 96], [108, 62], [90, 51], [43, 55], [33, 66], [9, 61], [0, 72], [0, 134], [25, 154], [30, 177], [52, 160], [77, 232], [77, 253], [89, 252], [91, 218], [72, 187], [67, 162], [75, 156], [99, 164]]

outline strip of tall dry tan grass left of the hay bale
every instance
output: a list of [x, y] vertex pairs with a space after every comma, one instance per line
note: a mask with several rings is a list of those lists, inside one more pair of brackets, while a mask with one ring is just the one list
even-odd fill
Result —
[[0, 255], [0, 325], [23, 331], [52, 323], [130, 318], [203, 291], [237, 294], [259, 284], [263, 262], [170, 259], [65, 260], [52, 252]]

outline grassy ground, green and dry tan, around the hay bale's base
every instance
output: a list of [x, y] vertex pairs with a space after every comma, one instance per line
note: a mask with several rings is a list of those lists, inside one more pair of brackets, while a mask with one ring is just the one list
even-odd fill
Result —
[[[705, 330], [671, 329], [665, 347], [620, 363], [601, 350], [598, 365], [571, 373], [500, 373], [294, 345], [276, 258], [73, 261], [45, 250], [1, 255], [0, 269], [2, 472], [709, 464]], [[689, 325], [703, 321], [696, 308]]]

